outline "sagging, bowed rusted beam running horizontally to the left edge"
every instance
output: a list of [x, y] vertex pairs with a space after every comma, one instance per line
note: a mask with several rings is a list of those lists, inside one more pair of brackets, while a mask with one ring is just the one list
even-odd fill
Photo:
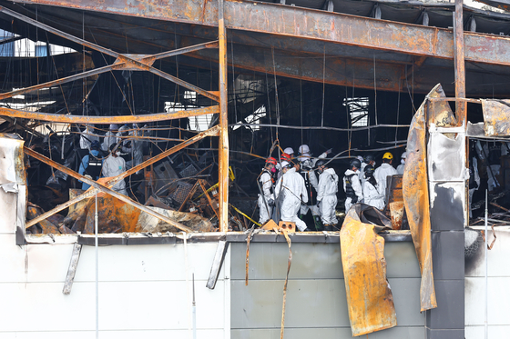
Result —
[[154, 115], [113, 115], [113, 116], [91, 116], [91, 115], [56, 115], [53, 113], [41, 113], [21, 111], [18, 109], [0, 107], [0, 116], [11, 116], [25, 119], [36, 119], [41, 121], [49, 121], [53, 123], [65, 124], [134, 124], [147, 123], [150, 121], [165, 121], [172, 119], [180, 119], [196, 115], [209, 115], [219, 113], [219, 106], [209, 106], [205, 108], [197, 108], [192, 110], [183, 110], [175, 113], [157, 113]]

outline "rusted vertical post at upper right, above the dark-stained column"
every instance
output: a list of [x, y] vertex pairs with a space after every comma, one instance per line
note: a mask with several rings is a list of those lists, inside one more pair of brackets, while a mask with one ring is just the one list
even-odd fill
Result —
[[[455, 98], [465, 98], [464, 68], [464, 15], [463, 0], [455, 0], [454, 12], [454, 61], [455, 61]], [[466, 103], [455, 101], [455, 115], [459, 125], [466, 125]]]

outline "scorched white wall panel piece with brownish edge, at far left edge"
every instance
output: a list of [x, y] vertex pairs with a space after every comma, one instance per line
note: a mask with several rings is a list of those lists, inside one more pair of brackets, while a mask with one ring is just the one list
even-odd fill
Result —
[[1, 185], [26, 185], [24, 143], [25, 141], [18, 135], [0, 134]]

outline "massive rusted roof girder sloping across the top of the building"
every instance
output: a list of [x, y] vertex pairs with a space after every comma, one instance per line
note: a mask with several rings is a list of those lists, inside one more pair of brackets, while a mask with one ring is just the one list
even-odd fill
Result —
[[[105, 0], [17, 0], [25, 4], [66, 6], [87, 11], [133, 15], [191, 25], [217, 27], [218, 2], [174, 0], [131, 2]], [[454, 59], [452, 30], [344, 15], [289, 5], [247, 0], [225, 1], [227, 29], [331, 41], [411, 55]], [[303, 18], [306, 17], [306, 20]], [[510, 39], [504, 36], [464, 33], [465, 60], [510, 65]]]

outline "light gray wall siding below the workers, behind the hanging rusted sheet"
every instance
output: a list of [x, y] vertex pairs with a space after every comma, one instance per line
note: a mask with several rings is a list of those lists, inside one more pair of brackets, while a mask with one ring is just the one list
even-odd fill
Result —
[[[288, 246], [250, 244], [250, 280], [245, 286], [246, 244], [231, 244], [231, 338], [279, 338]], [[340, 244], [292, 244], [285, 337], [352, 337], [343, 283]], [[386, 243], [387, 274], [398, 326], [371, 338], [420, 338], [420, 269], [413, 244]]]

